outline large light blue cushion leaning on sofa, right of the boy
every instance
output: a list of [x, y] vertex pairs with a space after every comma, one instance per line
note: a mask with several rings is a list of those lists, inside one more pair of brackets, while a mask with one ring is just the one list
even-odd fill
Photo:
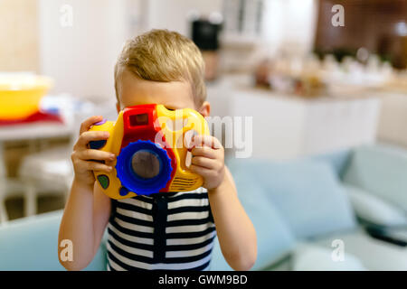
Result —
[[235, 160], [233, 165], [244, 168], [246, 182], [267, 192], [297, 238], [355, 228], [355, 215], [331, 165], [255, 159]]

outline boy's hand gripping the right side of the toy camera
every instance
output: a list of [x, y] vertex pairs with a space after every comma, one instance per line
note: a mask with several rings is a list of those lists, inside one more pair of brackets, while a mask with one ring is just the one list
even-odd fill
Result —
[[216, 189], [224, 178], [224, 149], [216, 137], [195, 135], [189, 151], [193, 154], [190, 170], [204, 178], [204, 188]]

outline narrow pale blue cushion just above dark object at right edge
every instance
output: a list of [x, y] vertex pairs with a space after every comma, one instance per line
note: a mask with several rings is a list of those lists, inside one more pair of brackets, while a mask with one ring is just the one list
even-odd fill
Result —
[[379, 226], [407, 225], [406, 214], [397, 206], [354, 186], [344, 188], [359, 219]]

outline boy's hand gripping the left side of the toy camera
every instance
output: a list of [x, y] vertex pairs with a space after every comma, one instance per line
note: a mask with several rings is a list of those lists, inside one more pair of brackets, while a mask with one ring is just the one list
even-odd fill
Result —
[[[75, 182], [93, 186], [95, 177], [92, 171], [111, 172], [115, 154], [90, 149], [90, 141], [99, 141], [109, 138], [109, 132], [88, 131], [90, 126], [101, 121], [103, 117], [89, 117], [80, 125], [80, 137], [73, 146], [71, 160], [75, 172]], [[105, 163], [93, 162], [105, 161]]]

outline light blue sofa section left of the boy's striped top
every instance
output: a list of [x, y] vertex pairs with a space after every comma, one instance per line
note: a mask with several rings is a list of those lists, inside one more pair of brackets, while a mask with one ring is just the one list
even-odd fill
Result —
[[[58, 231], [62, 211], [16, 219], [0, 227], [0, 271], [65, 270], [58, 260]], [[85, 270], [106, 270], [102, 244]]]

